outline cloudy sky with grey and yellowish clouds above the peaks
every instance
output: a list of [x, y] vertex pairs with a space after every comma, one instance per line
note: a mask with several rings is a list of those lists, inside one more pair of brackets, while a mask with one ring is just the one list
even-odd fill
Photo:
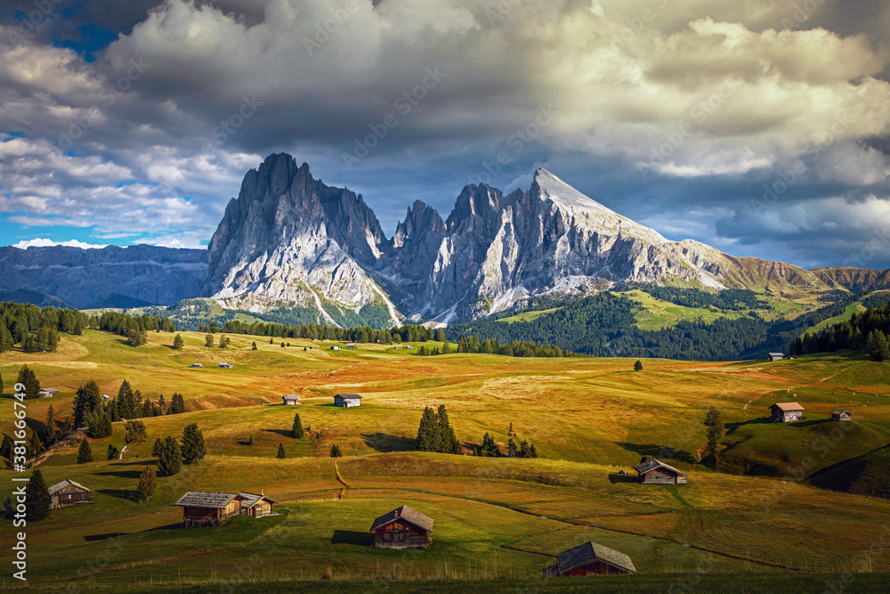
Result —
[[4, 0], [0, 245], [205, 246], [286, 151], [443, 218], [546, 167], [672, 240], [890, 268], [886, 0]]

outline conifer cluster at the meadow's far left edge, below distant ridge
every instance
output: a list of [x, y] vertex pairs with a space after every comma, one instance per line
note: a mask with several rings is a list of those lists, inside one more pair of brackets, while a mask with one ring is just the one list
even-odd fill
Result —
[[83, 334], [89, 316], [77, 310], [0, 303], [0, 353], [19, 345], [26, 353], [52, 353], [59, 332]]

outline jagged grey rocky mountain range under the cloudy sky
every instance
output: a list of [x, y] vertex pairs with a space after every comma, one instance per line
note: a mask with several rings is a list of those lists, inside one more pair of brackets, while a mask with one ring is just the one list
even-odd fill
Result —
[[452, 324], [628, 282], [702, 289], [890, 287], [888, 271], [807, 271], [672, 241], [538, 169], [528, 191], [471, 184], [443, 219], [416, 201], [387, 238], [361, 195], [273, 154], [245, 175], [207, 250], [0, 248], [0, 290], [84, 307], [109, 295], [385, 327]]

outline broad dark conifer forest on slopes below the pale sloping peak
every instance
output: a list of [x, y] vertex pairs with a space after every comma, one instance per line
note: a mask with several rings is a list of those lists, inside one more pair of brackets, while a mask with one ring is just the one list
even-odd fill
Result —
[[478, 336], [499, 344], [514, 340], [549, 344], [563, 352], [603, 357], [732, 361], [781, 351], [801, 329], [842, 313], [853, 301], [854, 297], [849, 297], [793, 321], [766, 321], [757, 313], [749, 313], [738, 320], [680, 321], [666, 330], [640, 330], [635, 320], [637, 304], [605, 292], [576, 299], [535, 320], [479, 320], [449, 327], [446, 334], [453, 340]]

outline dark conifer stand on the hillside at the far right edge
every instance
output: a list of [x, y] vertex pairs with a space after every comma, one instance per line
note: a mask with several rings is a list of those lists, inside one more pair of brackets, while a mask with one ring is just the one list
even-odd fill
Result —
[[868, 353], [872, 361], [890, 360], [890, 307], [880, 301], [849, 320], [839, 321], [818, 332], [798, 336], [789, 345], [789, 354], [833, 353], [852, 349]]

